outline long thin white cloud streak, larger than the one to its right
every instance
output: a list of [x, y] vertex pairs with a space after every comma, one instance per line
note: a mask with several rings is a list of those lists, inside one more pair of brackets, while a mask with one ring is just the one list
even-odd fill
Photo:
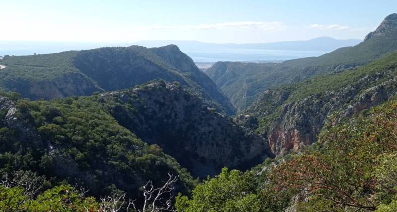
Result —
[[281, 22], [238, 21], [238, 22], [224, 22], [224, 23], [215, 23], [215, 24], [196, 24], [196, 25], [154, 25], [154, 26], [144, 26], [142, 28], [151, 29], [151, 30], [260, 29], [265, 31], [279, 31], [285, 29], [285, 25]]

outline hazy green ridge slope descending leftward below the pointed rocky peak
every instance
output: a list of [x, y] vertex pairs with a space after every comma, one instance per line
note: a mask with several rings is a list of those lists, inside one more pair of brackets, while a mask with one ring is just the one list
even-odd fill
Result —
[[397, 50], [397, 31], [389, 32], [368, 38], [356, 46], [339, 48], [318, 57], [287, 60], [278, 64], [230, 62], [227, 68], [223, 65], [220, 66], [223, 69], [219, 70], [216, 70], [219, 66], [215, 63], [205, 73], [232, 100], [237, 110], [243, 111], [268, 88], [365, 65]]

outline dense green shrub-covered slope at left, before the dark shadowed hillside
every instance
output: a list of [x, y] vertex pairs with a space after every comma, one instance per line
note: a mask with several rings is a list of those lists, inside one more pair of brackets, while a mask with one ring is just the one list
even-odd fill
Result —
[[[96, 197], [119, 190], [135, 197], [139, 186], [160, 184], [169, 171], [181, 177], [178, 190], [186, 193], [194, 185], [175, 159], [121, 127], [90, 97], [20, 99], [17, 108], [20, 124], [30, 129], [1, 123], [0, 175], [32, 170], [52, 184], [66, 180], [88, 187]], [[29, 137], [22, 137], [26, 132]]]

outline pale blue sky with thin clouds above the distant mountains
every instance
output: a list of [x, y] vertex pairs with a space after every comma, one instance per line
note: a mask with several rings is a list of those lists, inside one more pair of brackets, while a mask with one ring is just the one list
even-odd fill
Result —
[[0, 40], [363, 39], [397, 0], [0, 0]]

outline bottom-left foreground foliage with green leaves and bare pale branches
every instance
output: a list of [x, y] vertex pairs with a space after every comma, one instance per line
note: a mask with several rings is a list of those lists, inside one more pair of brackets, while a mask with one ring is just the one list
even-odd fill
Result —
[[60, 184], [45, 187], [45, 177], [31, 171], [17, 171], [0, 180], [0, 211], [6, 212], [175, 212], [172, 204], [174, 183], [179, 176], [168, 174], [168, 181], [156, 188], [152, 181], [143, 186], [143, 204], [127, 200], [126, 193], [99, 200], [87, 197], [87, 190]]

